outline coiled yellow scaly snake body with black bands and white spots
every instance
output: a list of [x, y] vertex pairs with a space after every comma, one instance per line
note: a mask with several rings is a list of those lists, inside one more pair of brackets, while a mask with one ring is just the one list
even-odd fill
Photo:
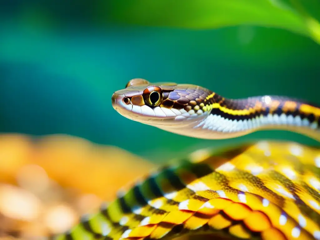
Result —
[[295, 143], [201, 150], [123, 190], [56, 239], [320, 239], [319, 167], [320, 150]]

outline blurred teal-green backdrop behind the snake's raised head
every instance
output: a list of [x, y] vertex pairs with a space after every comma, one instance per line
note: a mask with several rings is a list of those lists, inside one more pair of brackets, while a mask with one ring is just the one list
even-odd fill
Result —
[[[0, 131], [34, 136], [64, 133], [155, 161], [199, 147], [257, 139], [319, 146], [305, 136], [283, 131], [256, 132], [232, 140], [193, 139], [120, 116], [111, 106], [111, 95], [136, 77], [198, 84], [230, 98], [277, 94], [320, 105], [320, 45], [298, 23], [296, 31], [290, 30], [294, 25], [254, 24], [250, 19], [241, 26], [231, 21], [226, 27], [204, 24], [206, 28], [197, 29], [194, 22], [192, 28], [170, 24], [174, 15], [170, 6], [165, 8], [168, 15], [163, 15], [163, 21], [159, 14], [148, 22], [151, 14], [143, 13], [151, 8], [131, 3], [130, 15], [128, 5], [120, 0], [90, 4], [12, 0], [3, 4]], [[164, 7], [154, 10], [161, 13]], [[183, 17], [192, 19], [191, 15]], [[265, 19], [272, 19], [272, 14]]]

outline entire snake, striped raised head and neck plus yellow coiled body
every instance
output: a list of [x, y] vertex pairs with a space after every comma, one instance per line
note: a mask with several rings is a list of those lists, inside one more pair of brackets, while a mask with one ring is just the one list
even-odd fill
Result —
[[[200, 139], [287, 130], [320, 140], [320, 108], [285, 96], [227, 99], [192, 84], [130, 80], [113, 93], [122, 116]], [[320, 239], [320, 149], [259, 141], [199, 149], [119, 191], [56, 240]], [[196, 239], [196, 238], [195, 238]]]

